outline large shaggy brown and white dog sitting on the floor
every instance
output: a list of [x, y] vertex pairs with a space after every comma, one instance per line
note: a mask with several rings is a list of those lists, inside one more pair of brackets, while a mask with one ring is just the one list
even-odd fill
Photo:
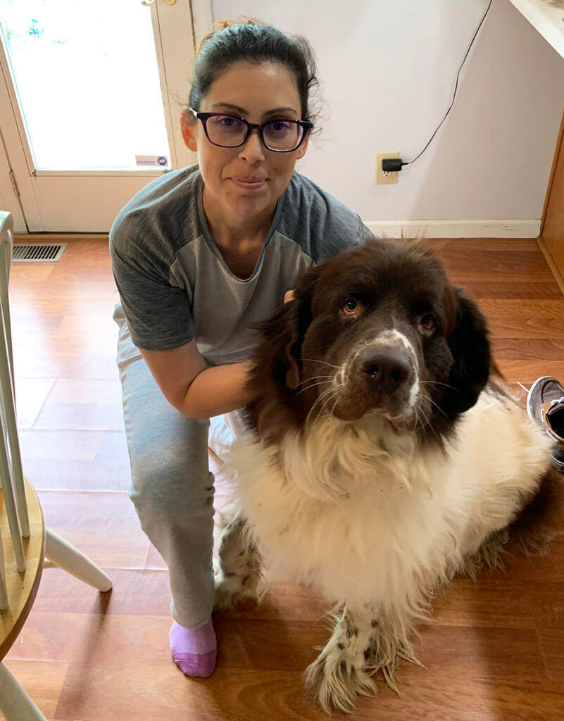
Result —
[[260, 330], [217, 598], [255, 595], [261, 559], [320, 590], [338, 610], [307, 683], [348, 710], [371, 673], [393, 685], [415, 660], [439, 586], [495, 563], [535, 515], [550, 449], [488, 382], [485, 319], [419, 244], [374, 240], [307, 270]]

